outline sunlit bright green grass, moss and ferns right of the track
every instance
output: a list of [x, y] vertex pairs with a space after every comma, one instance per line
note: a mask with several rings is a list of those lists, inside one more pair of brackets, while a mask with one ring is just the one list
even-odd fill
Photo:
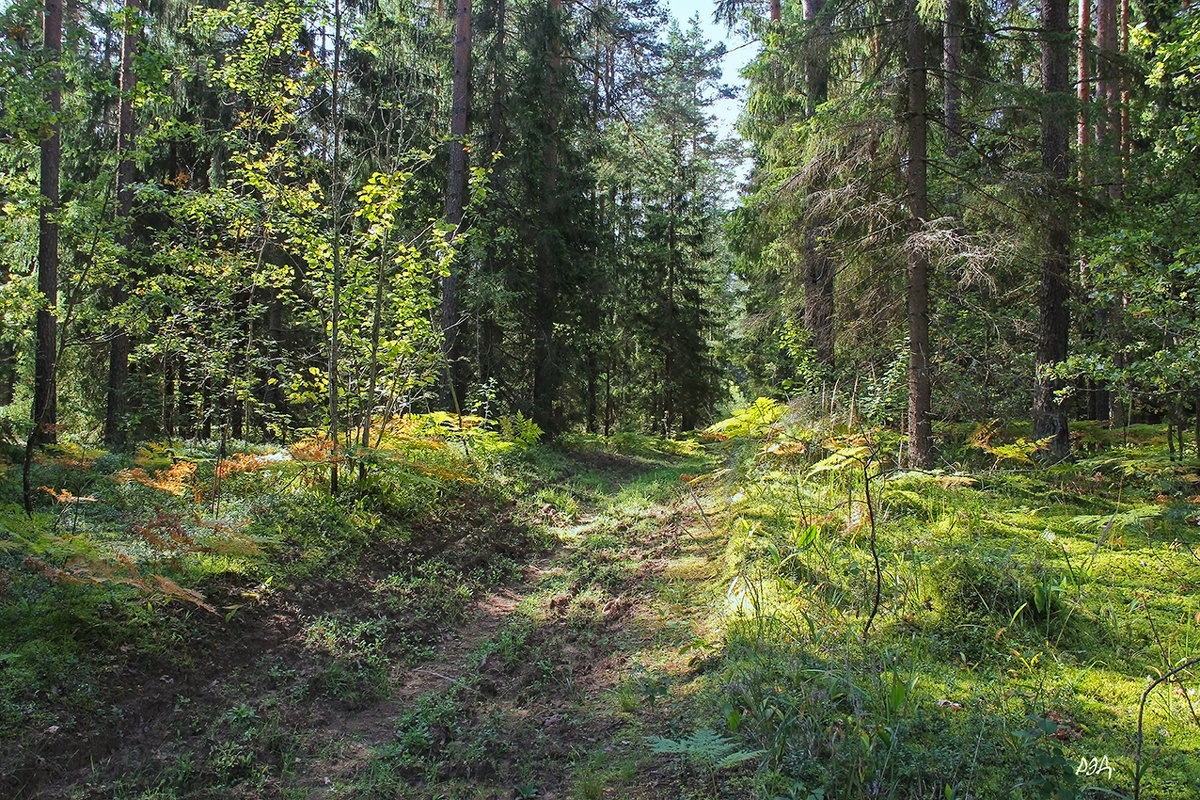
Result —
[[[1192, 798], [1200, 464], [1153, 437], [1043, 467], [998, 423], [929, 473], [760, 401], [727, 468], [713, 720], [764, 798]], [[1096, 438], [1096, 432], [1091, 432]], [[1182, 668], [1146, 698], [1151, 680]]]

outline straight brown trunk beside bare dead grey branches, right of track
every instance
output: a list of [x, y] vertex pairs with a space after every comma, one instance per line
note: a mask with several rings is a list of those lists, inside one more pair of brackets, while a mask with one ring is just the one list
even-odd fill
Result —
[[[920, 235], [929, 217], [928, 102], [929, 70], [925, 26], [917, 4], [908, 4], [908, 233]], [[929, 373], [929, 258], [916, 242], [908, 246], [908, 465], [932, 463], [931, 389]]]

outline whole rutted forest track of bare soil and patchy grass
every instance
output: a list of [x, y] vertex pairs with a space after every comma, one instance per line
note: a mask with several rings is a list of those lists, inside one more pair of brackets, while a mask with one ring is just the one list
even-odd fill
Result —
[[715, 542], [680, 481], [702, 465], [568, 456], [529, 503], [419, 525], [415, 561], [380, 547], [322, 587], [230, 588], [245, 607], [192, 666], [130, 675], [121, 735], [84, 736], [29, 796], [685, 796], [644, 736], [703, 666], [682, 648]]

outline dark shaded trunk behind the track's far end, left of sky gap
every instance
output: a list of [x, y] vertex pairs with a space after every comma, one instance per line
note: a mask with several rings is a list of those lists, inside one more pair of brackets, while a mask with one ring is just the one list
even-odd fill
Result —
[[533, 416], [534, 422], [548, 433], [557, 432], [554, 392], [558, 369], [554, 365], [554, 318], [558, 313], [558, 80], [562, 70], [562, 0], [546, 2], [546, 124], [541, 148], [542, 224], [538, 235], [538, 277], [534, 289], [533, 342]]

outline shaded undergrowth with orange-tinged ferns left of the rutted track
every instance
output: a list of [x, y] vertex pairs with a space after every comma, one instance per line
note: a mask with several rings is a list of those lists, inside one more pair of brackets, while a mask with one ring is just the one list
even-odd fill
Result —
[[[504, 432], [430, 419], [342, 455], [322, 437], [125, 455], [68, 441], [38, 453], [31, 516], [13, 447], [0, 458], [0, 794], [34, 796], [70, 768], [44, 769], [55, 742], [121, 729], [122, 704], [167, 691], [172, 675], [238, 682], [236, 664], [208, 660], [272, 618], [299, 626], [310, 664], [288, 678], [293, 700], [353, 709], [386, 697], [476, 593], [548, 545], [506, 522], [511, 500], [486, 480], [535, 439], [527, 420]], [[325, 486], [334, 459], [348, 479], [337, 498]], [[145, 675], [161, 676], [151, 692]], [[246, 724], [187, 753], [170, 792], [253, 777], [270, 715], [246, 708]]]

